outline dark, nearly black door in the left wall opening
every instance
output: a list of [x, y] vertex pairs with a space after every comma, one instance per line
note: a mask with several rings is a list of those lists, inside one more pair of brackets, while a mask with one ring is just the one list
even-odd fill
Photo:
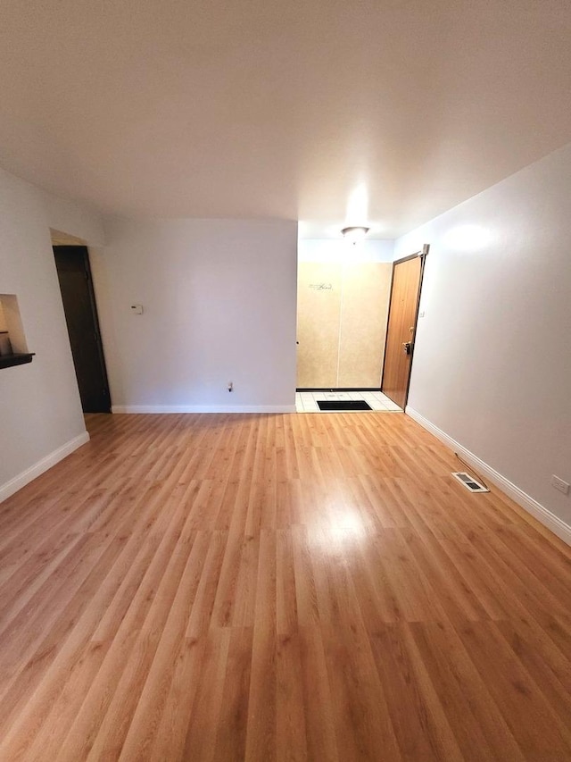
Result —
[[87, 247], [54, 246], [54, 256], [83, 412], [109, 413], [111, 396]]

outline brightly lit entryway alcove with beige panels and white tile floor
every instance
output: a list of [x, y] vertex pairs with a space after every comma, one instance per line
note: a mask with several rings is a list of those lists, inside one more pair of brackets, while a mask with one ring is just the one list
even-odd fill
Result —
[[392, 241], [298, 242], [298, 411], [400, 409], [380, 391], [392, 256]]

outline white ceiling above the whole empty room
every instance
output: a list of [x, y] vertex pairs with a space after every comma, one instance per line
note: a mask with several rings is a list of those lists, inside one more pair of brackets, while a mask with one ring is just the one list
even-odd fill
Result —
[[393, 238], [571, 140], [568, 0], [2, 0], [0, 165]]

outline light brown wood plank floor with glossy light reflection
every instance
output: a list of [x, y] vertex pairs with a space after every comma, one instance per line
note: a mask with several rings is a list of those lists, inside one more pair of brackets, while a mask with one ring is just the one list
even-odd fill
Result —
[[571, 552], [401, 414], [95, 415], [0, 506], [0, 760], [571, 759]]

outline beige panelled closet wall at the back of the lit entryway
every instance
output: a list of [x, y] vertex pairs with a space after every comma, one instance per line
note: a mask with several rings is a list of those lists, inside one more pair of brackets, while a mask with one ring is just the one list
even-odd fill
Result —
[[390, 263], [311, 263], [298, 268], [297, 386], [379, 387]]

